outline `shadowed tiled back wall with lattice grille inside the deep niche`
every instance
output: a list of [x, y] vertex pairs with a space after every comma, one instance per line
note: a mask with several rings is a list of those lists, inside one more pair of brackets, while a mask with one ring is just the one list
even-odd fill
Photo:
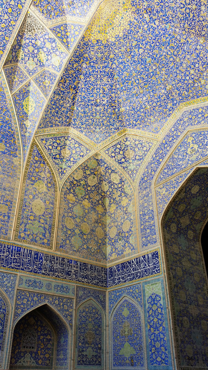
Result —
[[14, 328], [10, 369], [52, 369], [53, 346], [53, 330], [43, 317], [26, 314]]

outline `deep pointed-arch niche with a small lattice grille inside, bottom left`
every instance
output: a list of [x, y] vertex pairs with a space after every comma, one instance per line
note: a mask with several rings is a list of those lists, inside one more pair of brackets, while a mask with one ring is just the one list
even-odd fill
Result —
[[[34, 343], [33, 348], [27, 342]], [[71, 369], [71, 329], [48, 303], [27, 311], [13, 327], [9, 369], [26, 369], [25, 366]]]

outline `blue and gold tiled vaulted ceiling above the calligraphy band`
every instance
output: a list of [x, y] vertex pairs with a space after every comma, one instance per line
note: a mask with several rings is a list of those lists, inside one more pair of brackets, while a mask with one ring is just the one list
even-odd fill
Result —
[[1, 238], [137, 255], [145, 164], [148, 183], [181, 108], [207, 101], [205, 1], [12, 0], [1, 22]]

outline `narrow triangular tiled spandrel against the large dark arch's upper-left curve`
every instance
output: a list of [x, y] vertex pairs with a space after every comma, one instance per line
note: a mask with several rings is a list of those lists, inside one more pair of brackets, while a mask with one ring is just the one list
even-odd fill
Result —
[[175, 176], [173, 179], [165, 182], [164, 184], [156, 188], [158, 215], [160, 217], [169, 200], [171, 199], [171, 196], [175, 193], [175, 191], [177, 191], [181, 183], [185, 180], [185, 178], [189, 175], [191, 171], [192, 169], [189, 169], [189, 171]]

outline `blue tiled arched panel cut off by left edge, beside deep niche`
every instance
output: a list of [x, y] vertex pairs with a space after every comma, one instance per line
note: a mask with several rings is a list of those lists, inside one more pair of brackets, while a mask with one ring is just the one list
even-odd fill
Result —
[[6, 340], [7, 324], [9, 318], [9, 304], [0, 292], [0, 366], [3, 363], [4, 346]]

